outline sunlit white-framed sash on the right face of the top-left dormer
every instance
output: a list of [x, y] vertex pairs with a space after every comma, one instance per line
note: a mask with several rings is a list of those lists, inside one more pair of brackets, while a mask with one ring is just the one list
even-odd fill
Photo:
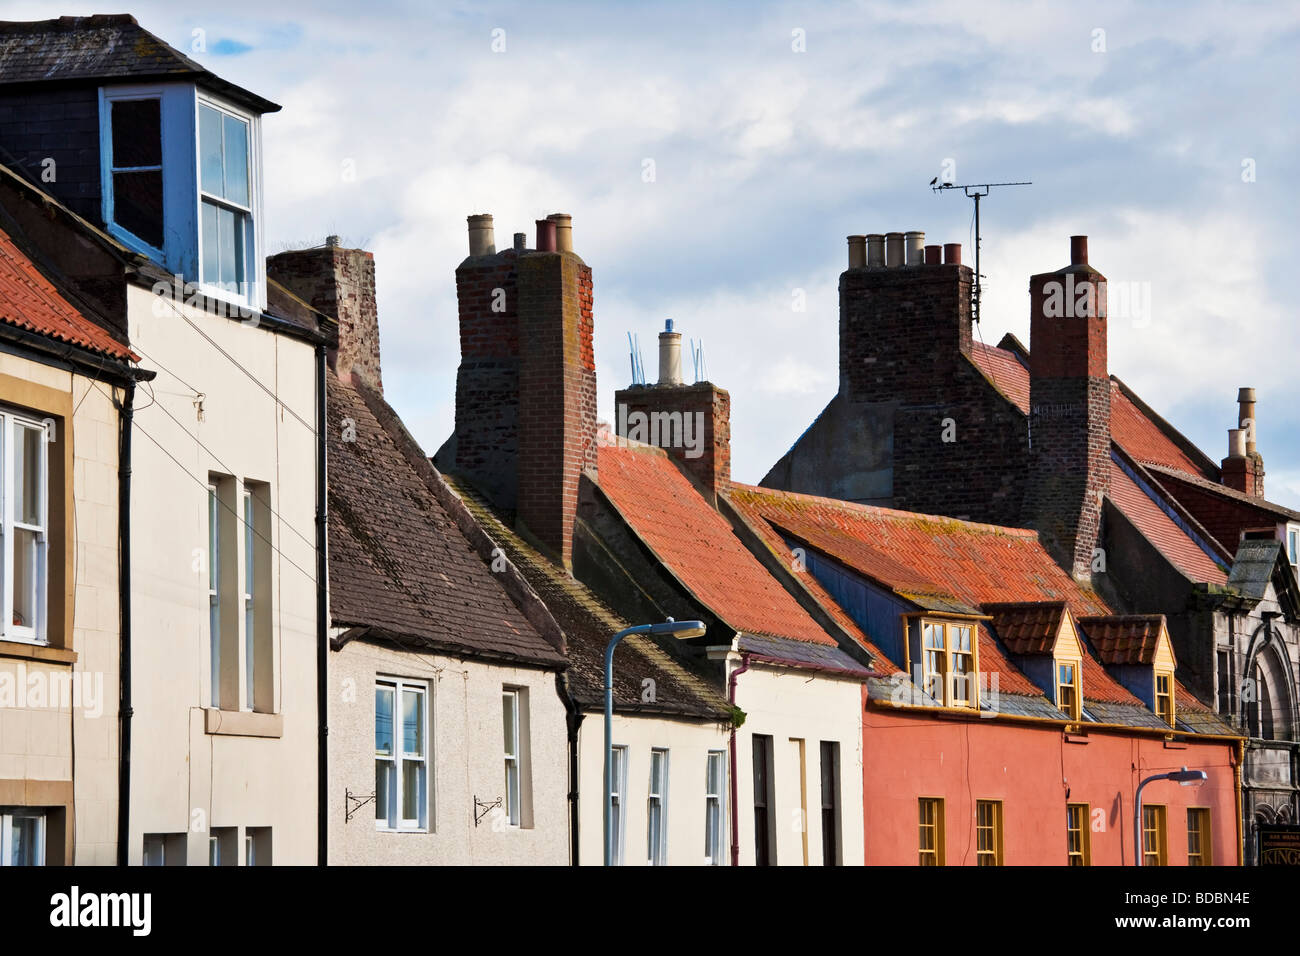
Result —
[[199, 103], [199, 278], [235, 295], [246, 294], [252, 246], [248, 129], [247, 117]]

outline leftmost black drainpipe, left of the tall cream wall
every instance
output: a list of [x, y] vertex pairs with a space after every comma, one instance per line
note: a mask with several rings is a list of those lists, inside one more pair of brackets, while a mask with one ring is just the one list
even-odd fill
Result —
[[131, 429], [135, 381], [129, 380], [118, 406], [117, 440], [117, 602], [121, 614], [117, 705], [117, 865], [126, 866], [131, 839]]

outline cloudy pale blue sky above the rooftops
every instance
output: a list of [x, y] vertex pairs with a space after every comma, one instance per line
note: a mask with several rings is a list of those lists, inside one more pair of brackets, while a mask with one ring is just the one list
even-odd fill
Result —
[[374, 252], [385, 394], [430, 454], [469, 215], [499, 247], [572, 215], [602, 416], [628, 333], [653, 380], [673, 319], [757, 483], [836, 392], [845, 237], [919, 229], [971, 263], [971, 202], [927, 183], [1023, 179], [982, 204], [976, 336], [1028, 343], [1028, 277], [1088, 235], [1112, 373], [1214, 460], [1256, 388], [1268, 497], [1300, 507], [1296, 4], [0, 3], [118, 8], [283, 107], [268, 251]]

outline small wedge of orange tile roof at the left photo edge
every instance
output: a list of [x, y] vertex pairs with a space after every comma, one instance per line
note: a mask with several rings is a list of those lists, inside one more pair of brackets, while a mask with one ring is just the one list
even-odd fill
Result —
[[122, 362], [138, 356], [78, 312], [0, 230], [0, 321]]

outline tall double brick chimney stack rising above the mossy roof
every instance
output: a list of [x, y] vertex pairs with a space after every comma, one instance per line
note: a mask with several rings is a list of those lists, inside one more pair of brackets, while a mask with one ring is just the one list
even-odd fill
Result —
[[538, 220], [536, 250], [498, 252], [491, 217], [471, 216], [456, 298], [456, 431], [436, 462], [568, 567], [597, 449], [592, 269], [572, 251], [572, 220]]

